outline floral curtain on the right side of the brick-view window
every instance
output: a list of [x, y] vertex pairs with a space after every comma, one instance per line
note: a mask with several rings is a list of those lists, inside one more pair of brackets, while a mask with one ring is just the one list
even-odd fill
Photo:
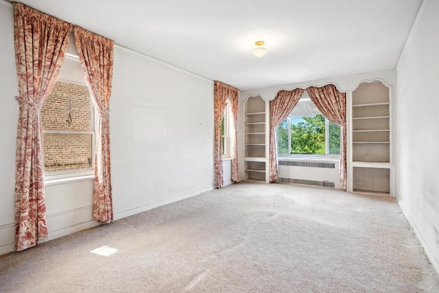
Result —
[[110, 165], [110, 94], [114, 42], [75, 26], [82, 71], [99, 118], [96, 123], [93, 219], [113, 220]]

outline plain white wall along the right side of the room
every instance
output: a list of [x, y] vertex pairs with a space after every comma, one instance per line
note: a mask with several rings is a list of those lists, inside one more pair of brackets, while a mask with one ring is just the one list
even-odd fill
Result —
[[438, 15], [424, 0], [396, 67], [396, 195], [439, 272]]

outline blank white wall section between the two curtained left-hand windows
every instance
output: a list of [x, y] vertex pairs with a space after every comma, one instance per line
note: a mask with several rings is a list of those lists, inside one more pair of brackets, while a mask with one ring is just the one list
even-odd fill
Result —
[[120, 47], [113, 74], [115, 218], [212, 189], [213, 82]]

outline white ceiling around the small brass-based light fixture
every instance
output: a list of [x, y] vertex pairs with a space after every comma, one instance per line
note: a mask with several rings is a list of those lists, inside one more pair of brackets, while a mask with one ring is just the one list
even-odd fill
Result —
[[[422, 0], [24, 0], [241, 90], [394, 69]], [[257, 58], [256, 40], [270, 49]]]

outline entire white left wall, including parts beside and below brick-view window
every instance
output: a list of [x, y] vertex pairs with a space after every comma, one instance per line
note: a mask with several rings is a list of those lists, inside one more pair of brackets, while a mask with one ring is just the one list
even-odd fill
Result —
[[[14, 249], [19, 104], [13, 29], [12, 5], [0, 1], [0, 255]], [[115, 218], [213, 189], [213, 82], [119, 46], [113, 75]], [[43, 241], [96, 226], [93, 180], [47, 185], [46, 208], [49, 238]]]

